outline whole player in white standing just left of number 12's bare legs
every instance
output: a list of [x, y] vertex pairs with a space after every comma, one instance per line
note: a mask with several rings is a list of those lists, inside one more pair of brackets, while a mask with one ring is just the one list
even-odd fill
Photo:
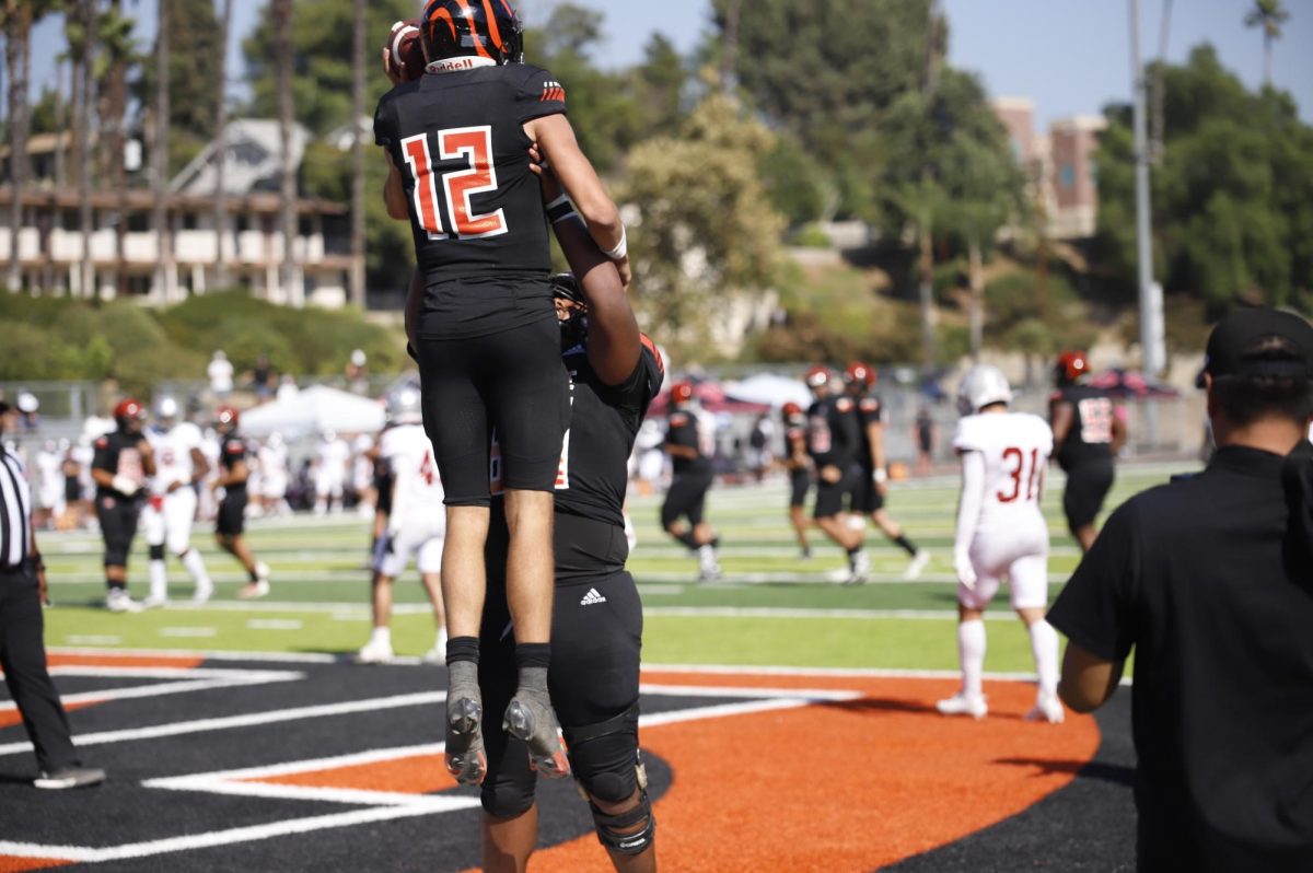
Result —
[[387, 407], [389, 419], [395, 427], [379, 436], [378, 454], [393, 471], [393, 511], [387, 521], [386, 545], [374, 572], [374, 630], [369, 642], [356, 654], [356, 660], [391, 660], [393, 582], [414, 558], [437, 621], [437, 641], [424, 655], [424, 662], [442, 664], [446, 663], [441, 576], [442, 542], [446, 536], [442, 480], [437, 475], [433, 446], [424, 433], [419, 390], [411, 386], [400, 389], [389, 399]]

